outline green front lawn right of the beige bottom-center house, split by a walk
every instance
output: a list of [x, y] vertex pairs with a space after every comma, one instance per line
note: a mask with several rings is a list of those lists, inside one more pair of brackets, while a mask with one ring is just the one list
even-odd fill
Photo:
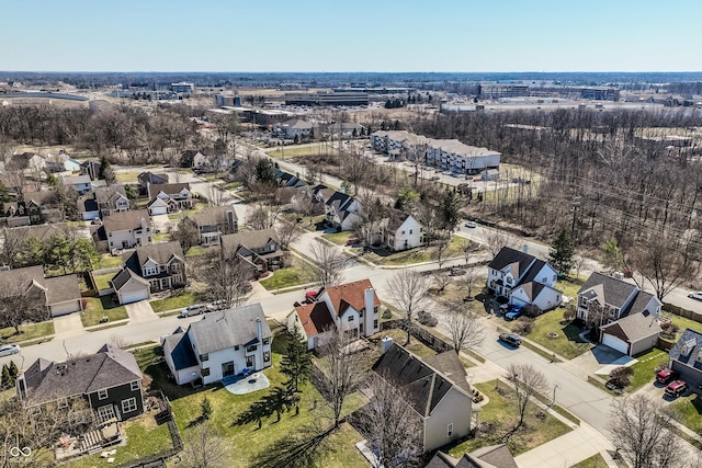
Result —
[[[489, 402], [483, 407], [480, 422], [491, 423], [489, 432], [479, 432], [477, 437], [454, 445], [449, 454], [460, 458], [463, 454], [477, 448], [499, 443], [507, 432], [509, 432], [519, 419], [514, 403], [512, 402], [513, 391], [502, 381], [499, 388], [502, 395], [495, 389], [496, 380], [476, 384], [475, 387], [486, 395]], [[553, 441], [568, 433], [570, 429], [558, 419], [548, 413], [544, 413], [541, 408], [530, 404], [526, 409], [524, 425], [510, 437], [507, 445], [512, 455], [517, 456], [537, 447], [548, 441]]]

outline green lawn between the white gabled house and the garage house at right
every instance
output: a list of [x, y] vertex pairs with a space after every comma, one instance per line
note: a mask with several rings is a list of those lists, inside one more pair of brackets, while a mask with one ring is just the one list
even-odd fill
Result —
[[[592, 349], [592, 344], [580, 339], [579, 333], [581, 330], [575, 324], [568, 323], [564, 326], [561, 323], [564, 310], [559, 307], [539, 316], [534, 321], [532, 332], [526, 338], [563, 357], [573, 359]], [[517, 322], [506, 322], [506, 324], [509, 328], [513, 328]], [[556, 338], [548, 336], [551, 332], [556, 333]]]

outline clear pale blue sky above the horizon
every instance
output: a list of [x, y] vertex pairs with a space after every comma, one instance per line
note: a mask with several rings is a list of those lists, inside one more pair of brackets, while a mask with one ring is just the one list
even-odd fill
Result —
[[0, 69], [702, 71], [700, 0], [0, 0]]

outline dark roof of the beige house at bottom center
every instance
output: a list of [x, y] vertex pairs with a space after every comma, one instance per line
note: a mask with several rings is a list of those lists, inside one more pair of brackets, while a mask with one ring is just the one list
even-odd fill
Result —
[[[393, 343], [378, 357], [373, 364], [373, 370], [405, 390], [412, 409], [422, 416], [430, 415], [444, 395], [454, 387], [448, 376], [429, 366], [397, 343]], [[465, 392], [460, 387], [457, 388]]]

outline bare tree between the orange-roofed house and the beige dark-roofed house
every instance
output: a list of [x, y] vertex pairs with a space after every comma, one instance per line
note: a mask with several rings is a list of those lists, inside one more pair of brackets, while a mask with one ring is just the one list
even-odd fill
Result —
[[353, 341], [355, 336], [333, 328], [324, 332], [317, 346], [319, 359], [313, 376], [315, 386], [331, 410], [335, 427], [341, 422], [343, 403], [363, 377], [364, 361], [362, 354], [352, 350]]

